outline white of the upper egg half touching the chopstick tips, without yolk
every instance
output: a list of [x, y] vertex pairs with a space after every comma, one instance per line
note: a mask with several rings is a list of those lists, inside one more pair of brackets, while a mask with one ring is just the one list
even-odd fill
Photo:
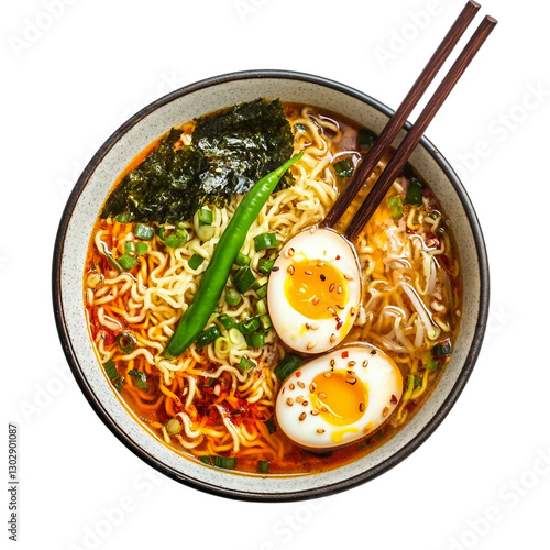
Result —
[[[310, 319], [286, 298], [285, 280], [300, 260], [331, 264], [345, 277], [348, 300], [330, 319]], [[267, 305], [273, 327], [289, 348], [300, 353], [323, 353], [337, 346], [353, 327], [361, 300], [361, 275], [355, 250], [329, 229], [307, 229], [290, 239], [280, 251], [270, 275]]]

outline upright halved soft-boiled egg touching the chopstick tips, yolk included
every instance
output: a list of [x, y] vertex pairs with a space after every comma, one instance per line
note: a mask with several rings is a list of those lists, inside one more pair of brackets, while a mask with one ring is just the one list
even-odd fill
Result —
[[361, 299], [355, 250], [330, 229], [298, 233], [280, 251], [267, 304], [283, 342], [301, 353], [338, 345], [353, 326]]

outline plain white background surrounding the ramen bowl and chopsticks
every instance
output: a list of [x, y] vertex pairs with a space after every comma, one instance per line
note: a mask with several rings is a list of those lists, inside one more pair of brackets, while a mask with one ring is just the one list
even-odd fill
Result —
[[[0, 479], [13, 421], [19, 548], [550, 548], [543, 2], [484, 2], [499, 25], [427, 132], [461, 175], [484, 229], [491, 317], [457, 406], [391, 472], [311, 503], [232, 502], [179, 485], [141, 462], [91, 410], [52, 312], [65, 201], [94, 152], [132, 113], [183, 85], [253, 68], [322, 75], [396, 108], [463, 3], [2, 2]], [[9, 494], [1, 494], [8, 548]]]

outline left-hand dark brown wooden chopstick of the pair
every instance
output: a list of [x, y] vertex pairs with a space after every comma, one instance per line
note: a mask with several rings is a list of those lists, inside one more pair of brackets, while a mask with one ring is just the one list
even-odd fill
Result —
[[384, 127], [384, 130], [369, 151], [369, 154], [359, 164], [353, 177], [348, 184], [348, 187], [332, 206], [332, 209], [327, 215], [323, 222], [326, 227], [332, 228], [336, 223], [338, 223], [353, 200], [353, 197], [363, 186], [364, 180], [371, 175], [374, 167], [378, 164], [380, 158], [389, 147], [413, 109], [416, 107], [422, 95], [428, 89], [428, 86], [431, 84], [439, 69], [449, 57], [449, 54], [457, 45], [460, 37], [464, 34], [464, 31], [468, 29], [468, 25], [472, 22], [480, 8], [481, 6], [473, 0], [470, 0], [465, 4], [460, 15], [457, 18], [457, 21], [453, 23], [446, 37], [438, 46], [408, 94], [403, 99], [402, 105], [397, 108], [393, 117]]

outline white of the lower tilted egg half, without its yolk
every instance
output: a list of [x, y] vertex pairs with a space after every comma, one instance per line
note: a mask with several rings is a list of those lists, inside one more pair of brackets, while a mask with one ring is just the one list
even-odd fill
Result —
[[[316, 405], [318, 375], [345, 371], [350, 381], [362, 384], [367, 395], [361, 417], [345, 426], [329, 424]], [[327, 378], [330, 382], [330, 374]], [[369, 436], [380, 428], [397, 407], [403, 395], [403, 376], [394, 361], [369, 344], [353, 344], [317, 358], [292, 374], [282, 385], [275, 404], [280, 430], [298, 446], [333, 449]], [[360, 409], [361, 410], [361, 409]]]

